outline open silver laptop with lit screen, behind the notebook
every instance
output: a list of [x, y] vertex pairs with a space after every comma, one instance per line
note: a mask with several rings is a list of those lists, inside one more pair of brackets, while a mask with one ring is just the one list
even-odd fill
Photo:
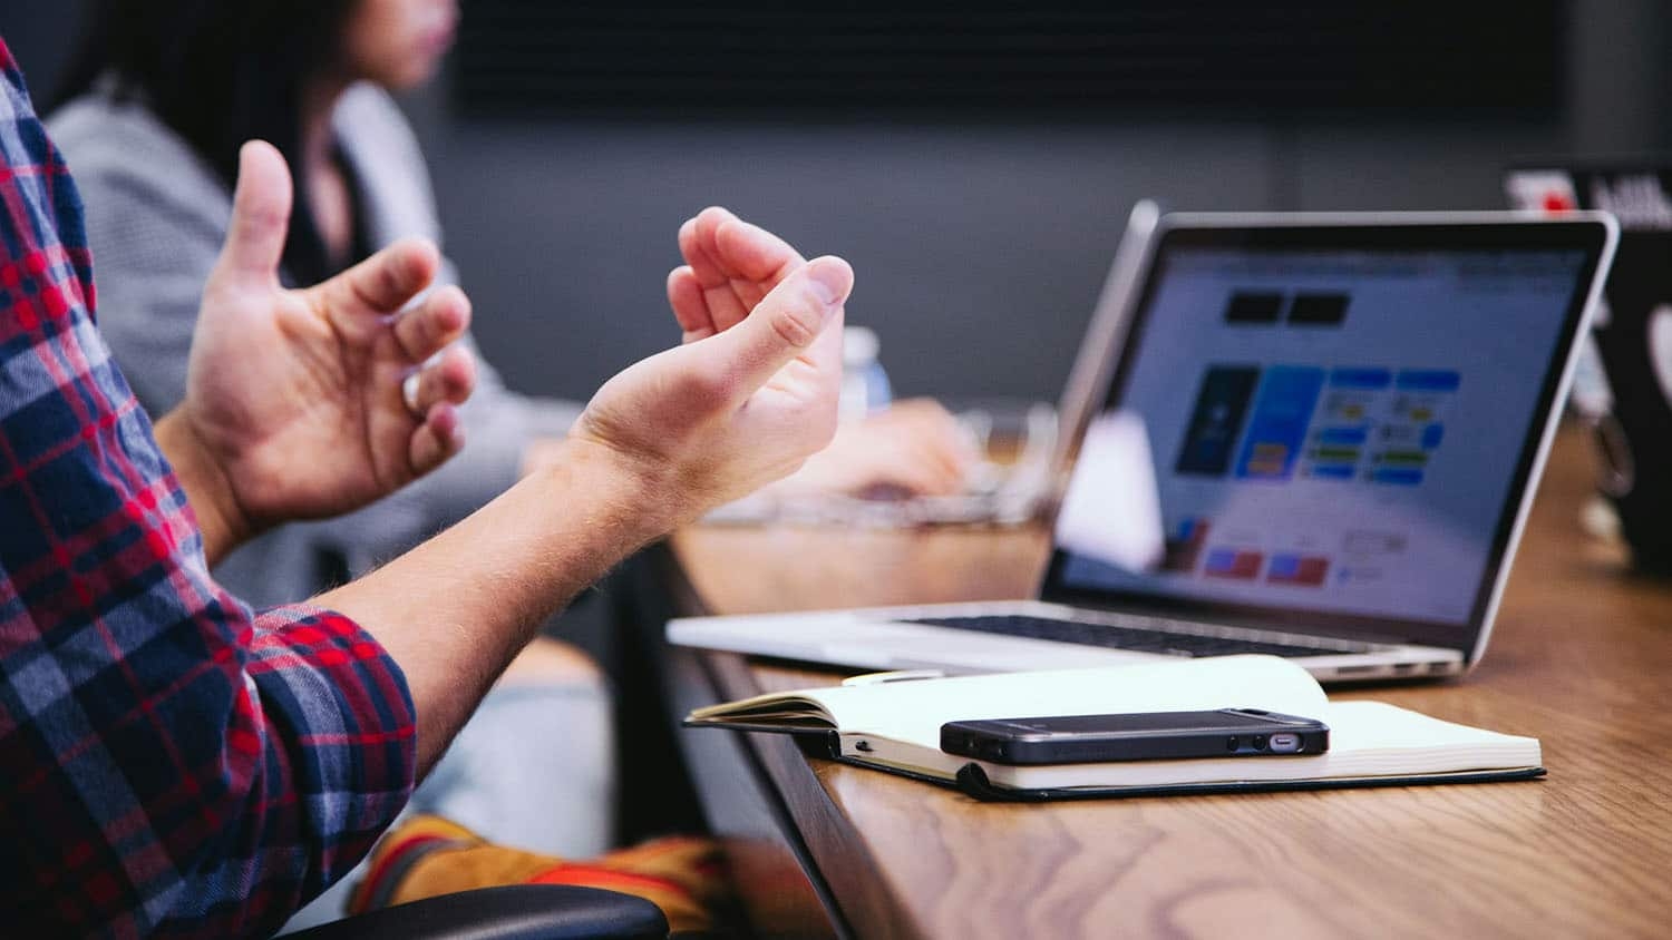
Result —
[[[1615, 240], [1583, 212], [1165, 215], [1132, 289], [1105, 296], [1109, 367], [1035, 599], [667, 636], [871, 670], [1272, 653], [1323, 681], [1465, 673]], [[1109, 493], [1134, 486], [1154, 493]], [[1145, 503], [1159, 551], [1097, 538]]]

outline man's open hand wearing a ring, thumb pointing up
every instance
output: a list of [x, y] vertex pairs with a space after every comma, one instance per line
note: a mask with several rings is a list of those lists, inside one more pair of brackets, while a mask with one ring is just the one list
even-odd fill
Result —
[[246, 144], [186, 401], [157, 424], [211, 558], [274, 523], [371, 503], [463, 446], [455, 406], [470, 396], [475, 364], [448, 344], [463, 336], [470, 302], [443, 287], [403, 312], [435, 279], [435, 247], [400, 242], [286, 291], [278, 265], [289, 214], [284, 159]]

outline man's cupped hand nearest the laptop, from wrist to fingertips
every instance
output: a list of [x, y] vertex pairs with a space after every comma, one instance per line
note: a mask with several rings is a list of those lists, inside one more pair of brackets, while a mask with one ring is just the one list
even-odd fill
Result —
[[669, 275], [684, 346], [604, 384], [570, 442], [634, 478], [667, 531], [796, 471], [831, 441], [843, 304], [853, 270], [803, 262], [784, 240], [707, 209], [681, 229]]

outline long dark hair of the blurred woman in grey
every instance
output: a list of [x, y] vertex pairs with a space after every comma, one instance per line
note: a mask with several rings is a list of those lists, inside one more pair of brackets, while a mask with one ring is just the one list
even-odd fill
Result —
[[142, 100], [227, 189], [239, 147], [268, 140], [296, 180], [284, 267], [303, 284], [321, 280], [331, 265], [299, 172], [303, 93], [334, 65], [356, 2], [94, 0], [52, 107], [110, 73], [120, 99]]

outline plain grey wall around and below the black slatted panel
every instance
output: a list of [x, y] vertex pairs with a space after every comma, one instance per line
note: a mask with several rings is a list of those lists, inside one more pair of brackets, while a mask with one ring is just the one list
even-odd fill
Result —
[[[79, 0], [0, 0], [38, 88]], [[466, 7], [468, 15], [468, 7]], [[487, 122], [408, 100], [490, 361], [585, 397], [675, 337], [662, 280], [707, 204], [854, 262], [905, 392], [1055, 397], [1127, 209], [1493, 209], [1528, 154], [1672, 150], [1669, 13], [1575, 0], [1558, 115], [1109, 125]]]

